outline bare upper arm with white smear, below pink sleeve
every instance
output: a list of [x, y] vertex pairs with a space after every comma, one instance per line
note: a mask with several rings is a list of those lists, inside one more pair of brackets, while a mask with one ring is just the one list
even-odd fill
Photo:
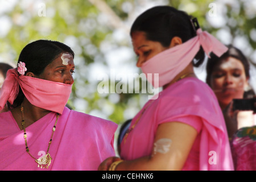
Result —
[[150, 159], [154, 170], [181, 170], [196, 136], [196, 129], [188, 124], [178, 121], [160, 124]]

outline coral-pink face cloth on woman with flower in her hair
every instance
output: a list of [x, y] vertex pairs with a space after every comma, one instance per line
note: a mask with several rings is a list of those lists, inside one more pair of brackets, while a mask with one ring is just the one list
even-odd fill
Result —
[[32, 105], [60, 114], [72, 92], [72, 85], [19, 75], [16, 68], [9, 69], [0, 90], [0, 110], [7, 101], [13, 104], [19, 93], [19, 85]]

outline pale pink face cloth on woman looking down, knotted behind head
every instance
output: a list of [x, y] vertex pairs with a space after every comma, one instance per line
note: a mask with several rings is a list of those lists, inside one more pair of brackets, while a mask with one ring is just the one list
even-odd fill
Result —
[[205, 53], [209, 57], [209, 53], [213, 52], [217, 56], [221, 56], [228, 48], [219, 42], [214, 36], [199, 28], [195, 38], [189, 39], [187, 42], [160, 52], [151, 59], [143, 63], [141, 69], [146, 77], [151, 74], [159, 74], [159, 80], [154, 77], [148, 79], [149, 82], [158, 88], [171, 82], [174, 77], [179, 74], [196, 56], [200, 46], [203, 47]]

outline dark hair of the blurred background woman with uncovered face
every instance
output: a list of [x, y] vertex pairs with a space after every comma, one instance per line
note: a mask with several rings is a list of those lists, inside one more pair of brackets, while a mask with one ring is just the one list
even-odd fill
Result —
[[[247, 60], [246, 56], [242, 53], [242, 51], [231, 44], [228, 46], [228, 51], [226, 51], [223, 55], [220, 57], [216, 56], [213, 52], [210, 53], [210, 58], [207, 61], [206, 65], [206, 71], [207, 71], [207, 77], [206, 82], [210, 86], [210, 77], [212, 76], [212, 73], [214, 71], [214, 68], [217, 64], [220, 63], [220, 61], [227, 59], [228, 57], [234, 57], [237, 60], [241, 61], [243, 68], [245, 69], [245, 76], [247, 78], [250, 78], [250, 64]], [[248, 90], [243, 94], [243, 98], [250, 98], [255, 95], [253, 90]]]

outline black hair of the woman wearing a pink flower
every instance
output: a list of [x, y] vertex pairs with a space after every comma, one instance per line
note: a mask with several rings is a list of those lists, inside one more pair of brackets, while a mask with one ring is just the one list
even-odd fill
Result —
[[[20, 52], [19, 61], [22, 61], [26, 64], [27, 72], [32, 72], [35, 75], [40, 75], [43, 73], [44, 69], [52, 63], [61, 53], [68, 52], [71, 55], [75, 56], [75, 53], [67, 45], [52, 41], [52, 40], [36, 40], [35, 42], [27, 44], [22, 51]], [[18, 65], [17, 63], [17, 65]], [[22, 89], [19, 88], [19, 93], [16, 99], [14, 100], [11, 108], [19, 106], [24, 100], [24, 94]], [[9, 108], [10, 109], [10, 108]]]

